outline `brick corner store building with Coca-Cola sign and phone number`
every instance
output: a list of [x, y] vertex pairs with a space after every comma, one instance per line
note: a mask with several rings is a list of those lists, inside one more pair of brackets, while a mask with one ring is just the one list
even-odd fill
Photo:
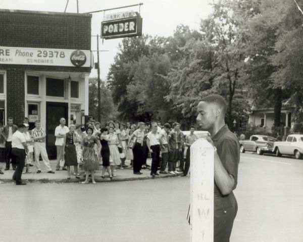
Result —
[[59, 119], [88, 115], [91, 15], [0, 9], [0, 33], [0, 122], [40, 119], [56, 154]]

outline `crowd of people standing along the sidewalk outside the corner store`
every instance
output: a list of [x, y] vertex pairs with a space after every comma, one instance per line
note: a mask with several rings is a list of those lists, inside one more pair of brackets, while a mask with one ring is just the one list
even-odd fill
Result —
[[[103, 167], [102, 178], [105, 178], [107, 173], [111, 180], [116, 176], [116, 169], [126, 168], [133, 169], [135, 175], [143, 174], [141, 169], [149, 169], [151, 176], [179, 172], [186, 176], [189, 170], [190, 149], [187, 149], [185, 162], [184, 148], [190, 147], [197, 139], [193, 134], [194, 126], [190, 127], [191, 133], [184, 139], [177, 122], [172, 126], [169, 123], [162, 126], [161, 122], [124, 124], [109, 121], [105, 127], [100, 127], [100, 123], [92, 117], [89, 117], [86, 124], [71, 124], [69, 127], [66, 126], [65, 118], [61, 118], [59, 122], [60, 125], [55, 129], [56, 171], [66, 170], [67, 179], [71, 179], [70, 167], [73, 166], [75, 177], [80, 179], [78, 171], [82, 169], [85, 171], [85, 180], [82, 183], [88, 183], [91, 177], [92, 183], [95, 184], [95, 171], [100, 165]], [[10, 164], [12, 165], [17, 174], [13, 177], [16, 184], [25, 184], [21, 180], [21, 174], [31, 173], [30, 166], [33, 166], [33, 163], [37, 167], [37, 173], [41, 173], [40, 155], [46, 172], [54, 174], [45, 146], [46, 132], [41, 127], [40, 120], [35, 121], [35, 128], [32, 130], [28, 130], [27, 118], [18, 126], [13, 123], [12, 117], [8, 118], [7, 123], [0, 129], [0, 142], [5, 142], [5, 170], [9, 170]], [[20, 133], [23, 134], [22, 138]], [[146, 163], [148, 157], [151, 158], [151, 166]], [[126, 165], [126, 161], [129, 165]], [[3, 174], [2, 170], [0, 174]]]

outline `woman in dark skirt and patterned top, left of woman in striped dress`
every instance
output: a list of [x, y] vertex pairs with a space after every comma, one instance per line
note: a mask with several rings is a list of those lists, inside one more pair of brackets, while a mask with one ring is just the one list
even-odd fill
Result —
[[75, 143], [80, 142], [79, 139], [77, 139], [77, 134], [75, 133], [76, 126], [74, 124], [71, 124], [69, 127], [69, 132], [65, 134], [64, 141], [63, 141], [63, 147], [65, 154], [65, 166], [67, 167], [67, 179], [71, 179], [71, 173], [70, 173], [70, 166], [74, 166], [74, 172], [76, 174], [76, 178], [80, 178], [78, 176], [78, 159], [77, 159], [77, 152]]

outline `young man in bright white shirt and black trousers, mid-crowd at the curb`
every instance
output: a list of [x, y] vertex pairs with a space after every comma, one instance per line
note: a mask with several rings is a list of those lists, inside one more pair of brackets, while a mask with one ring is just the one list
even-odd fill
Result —
[[151, 123], [151, 131], [147, 134], [146, 144], [151, 154], [151, 176], [159, 176], [157, 170], [160, 160], [160, 141], [157, 133], [158, 125], [156, 122]]

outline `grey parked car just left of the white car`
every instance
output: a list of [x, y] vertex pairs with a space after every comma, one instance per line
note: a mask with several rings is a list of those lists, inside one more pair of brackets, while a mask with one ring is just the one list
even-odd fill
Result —
[[276, 138], [267, 135], [251, 135], [249, 140], [240, 140], [240, 152], [255, 151], [258, 155], [272, 153]]

